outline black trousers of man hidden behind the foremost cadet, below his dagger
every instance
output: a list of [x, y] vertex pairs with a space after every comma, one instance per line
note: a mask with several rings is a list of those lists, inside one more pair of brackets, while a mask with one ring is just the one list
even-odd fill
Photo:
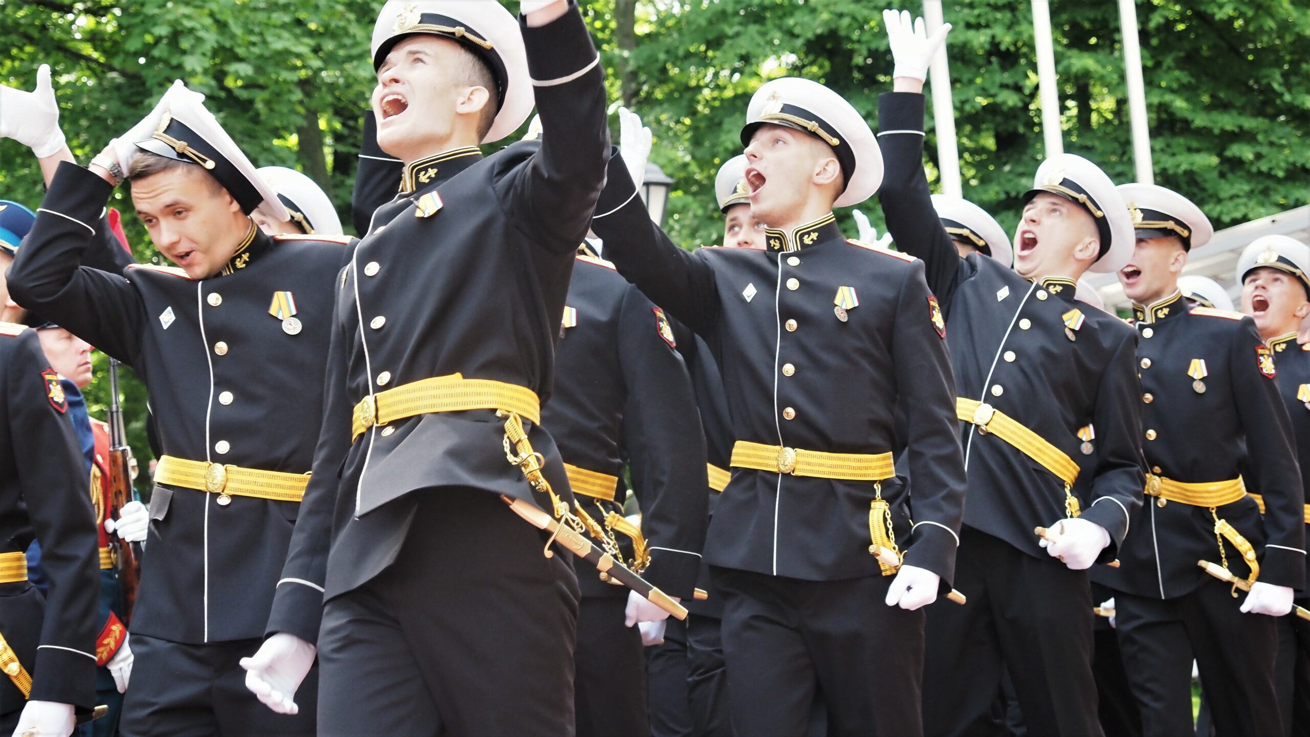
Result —
[[574, 652], [578, 737], [648, 737], [646, 653], [637, 627], [624, 627], [627, 597], [583, 597]]

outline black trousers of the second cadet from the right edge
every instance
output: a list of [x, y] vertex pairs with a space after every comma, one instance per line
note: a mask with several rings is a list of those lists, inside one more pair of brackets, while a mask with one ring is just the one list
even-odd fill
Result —
[[1171, 598], [1115, 597], [1119, 645], [1137, 695], [1142, 733], [1191, 737], [1192, 657], [1210, 710], [1214, 734], [1282, 734], [1273, 661], [1277, 620], [1242, 614], [1242, 597], [1230, 585], [1203, 581], [1192, 593]]

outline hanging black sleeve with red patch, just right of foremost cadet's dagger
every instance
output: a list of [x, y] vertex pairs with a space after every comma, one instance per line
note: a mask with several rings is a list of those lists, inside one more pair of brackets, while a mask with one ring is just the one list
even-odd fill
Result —
[[689, 598], [709, 524], [705, 437], [672, 326], [635, 287], [618, 318], [618, 361], [627, 387], [624, 449], [651, 551], [646, 579]]

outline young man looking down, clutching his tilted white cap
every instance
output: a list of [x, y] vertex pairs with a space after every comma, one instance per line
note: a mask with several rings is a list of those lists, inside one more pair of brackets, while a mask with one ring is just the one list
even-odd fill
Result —
[[[179, 268], [79, 268], [114, 186]], [[174, 85], [90, 170], [63, 162], [10, 270], [14, 298], [134, 367], [161, 457], [132, 613], [123, 734], [312, 734], [242, 686], [310, 467], [347, 240], [269, 237], [288, 216], [236, 143]], [[195, 386], [196, 377], [199, 386]], [[138, 534], [139, 525], [124, 525]], [[126, 534], [126, 533], [124, 533]], [[136, 538], [134, 538], [136, 539]]]

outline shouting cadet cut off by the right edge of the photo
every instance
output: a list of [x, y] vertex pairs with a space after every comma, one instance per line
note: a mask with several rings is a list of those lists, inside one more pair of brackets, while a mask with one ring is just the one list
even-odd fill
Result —
[[[1302, 504], [1310, 503], [1310, 343], [1301, 333], [1310, 319], [1310, 249], [1286, 236], [1263, 236], [1238, 258], [1242, 309], [1273, 352], [1275, 381], [1292, 420], [1292, 442], [1301, 466]], [[1224, 295], [1226, 297], [1226, 295]], [[1259, 476], [1260, 469], [1252, 467]], [[1258, 499], [1262, 508], [1264, 500]], [[1303, 507], [1310, 522], [1310, 504]], [[1310, 573], [1307, 573], [1310, 576]], [[1294, 603], [1310, 606], [1310, 577], [1297, 585]], [[1273, 685], [1285, 734], [1310, 734], [1310, 622], [1277, 618], [1279, 655]]]

